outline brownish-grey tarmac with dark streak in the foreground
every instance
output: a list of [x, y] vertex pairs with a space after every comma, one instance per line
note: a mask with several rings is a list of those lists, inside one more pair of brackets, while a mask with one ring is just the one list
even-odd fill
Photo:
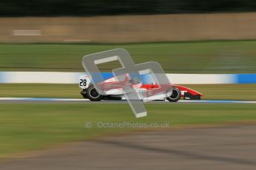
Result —
[[4, 170], [256, 169], [256, 125], [135, 132], [0, 163]]

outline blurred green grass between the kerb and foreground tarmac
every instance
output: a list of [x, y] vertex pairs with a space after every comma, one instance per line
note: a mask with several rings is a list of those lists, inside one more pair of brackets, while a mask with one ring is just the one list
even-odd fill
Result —
[[[171, 123], [171, 127], [256, 120], [253, 104], [146, 104], [134, 118], [128, 104], [1, 104], [0, 157], [136, 129], [100, 129], [96, 123]], [[91, 129], [85, 128], [92, 122]]]

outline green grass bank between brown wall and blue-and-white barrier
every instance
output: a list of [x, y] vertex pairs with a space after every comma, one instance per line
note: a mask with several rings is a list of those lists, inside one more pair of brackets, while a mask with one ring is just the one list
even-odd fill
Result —
[[[135, 63], [159, 62], [168, 73], [256, 72], [256, 41], [198, 41], [149, 44], [0, 44], [1, 71], [82, 72], [82, 57], [125, 48]], [[103, 71], [117, 64], [102, 67]]]

